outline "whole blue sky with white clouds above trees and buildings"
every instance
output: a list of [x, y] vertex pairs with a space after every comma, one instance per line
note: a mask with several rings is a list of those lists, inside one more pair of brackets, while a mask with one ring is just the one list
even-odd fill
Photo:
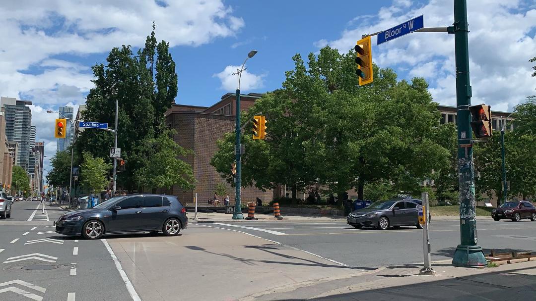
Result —
[[[511, 110], [534, 94], [528, 59], [536, 55], [536, 4], [531, 0], [468, 1], [473, 103]], [[163, 5], [162, 5], [163, 4]], [[141, 47], [157, 24], [177, 64], [176, 102], [211, 105], [233, 92], [236, 71], [251, 49], [242, 92], [280, 87], [292, 56], [330, 45], [346, 52], [364, 33], [424, 15], [426, 27], [449, 26], [452, 1], [227, 1], [93, 0], [2, 2], [0, 95], [32, 100], [33, 124], [54, 155], [54, 114], [84, 103], [91, 66], [106, 63], [121, 44]], [[443, 33], [413, 33], [376, 46], [374, 61], [400, 79], [424, 76], [434, 100], [455, 104], [454, 40]], [[47, 169], [47, 163], [45, 166]]]

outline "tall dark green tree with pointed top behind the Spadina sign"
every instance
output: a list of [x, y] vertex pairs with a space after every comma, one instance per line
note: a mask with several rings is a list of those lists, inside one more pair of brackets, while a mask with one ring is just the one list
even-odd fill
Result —
[[[108, 122], [113, 127], [115, 102], [118, 101], [117, 144], [122, 148], [123, 159], [128, 161], [126, 171], [118, 175], [118, 184], [132, 191], [143, 186], [154, 188], [157, 184], [167, 186], [175, 183], [180, 176], [172, 172], [165, 173], [168, 179], [162, 179], [164, 175], [161, 174], [143, 172], [153, 168], [148, 165], [150, 160], [147, 158], [152, 156], [154, 141], [165, 135], [163, 115], [177, 95], [175, 63], [169, 53], [169, 44], [165, 41], [157, 43], [154, 22], [145, 47], [139, 49], [137, 55], [130, 46], [115, 47], [107, 57], [106, 66], [96, 64], [92, 69], [95, 88], [87, 96], [83, 118]], [[110, 160], [108, 150], [114, 144], [114, 134], [86, 130], [76, 144], [79, 152], [88, 151], [96, 157]], [[176, 149], [176, 156], [181, 153], [185, 150]], [[162, 168], [175, 170], [180, 167], [173, 160], [159, 164], [168, 163], [171, 165]], [[187, 177], [191, 174], [191, 171], [184, 171]], [[188, 186], [183, 184], [182, 187]]]

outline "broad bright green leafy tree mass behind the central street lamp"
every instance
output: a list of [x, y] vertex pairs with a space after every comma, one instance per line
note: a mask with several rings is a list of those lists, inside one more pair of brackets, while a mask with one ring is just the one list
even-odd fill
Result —
[[[358, 86], [355, 54], [329, 47], [318, 58], [300, 55], [280, 90], [267, 93], [249, 112], [269, 116], [266, 140], [245, 135], [242, 183], [258, 188], [286, 184], [293, 190], [322, 184], [339, 194], [366, 183], [390, 181], [397, 191], [420, 190], [420, 181], [446, 163], [448, 150], [434, 141], [440, 113], [424, 79], [397, 81], [375, 66], [375, 81]], [[244, 133], [245, 134], [245, 133]], [[249, 133], [247, 133], [249, 134]], [[233, 134], [218, 142], [211, 164], [230, 182]]]

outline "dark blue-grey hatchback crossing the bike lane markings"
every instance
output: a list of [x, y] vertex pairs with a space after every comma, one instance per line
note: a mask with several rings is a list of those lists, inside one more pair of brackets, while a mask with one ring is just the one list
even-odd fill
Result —
[[186, 209], [174, 196], [117, 196], [92, 209], [63, 214], [54, 222], [56, 232], [96, 240], [105, 234], [163, 231], [175, 236], [188, 226]]

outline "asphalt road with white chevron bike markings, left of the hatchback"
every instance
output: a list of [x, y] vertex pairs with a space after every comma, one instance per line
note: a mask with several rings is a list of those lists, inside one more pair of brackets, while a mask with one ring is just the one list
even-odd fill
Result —
[[132, 300], [103, 241], [56, 234], [65, 211], [37, 208], [14, 202], [0, 220], [0, 301]]

